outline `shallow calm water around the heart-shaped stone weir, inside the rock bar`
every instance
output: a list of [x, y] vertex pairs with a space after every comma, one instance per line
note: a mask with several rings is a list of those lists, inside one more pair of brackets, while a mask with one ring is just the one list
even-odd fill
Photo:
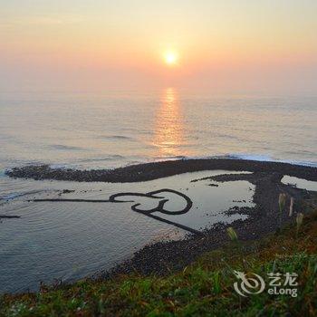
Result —
[[[144, 245], [184, 238], [192, 234], [189, 229], [201, 231], [219, 222], [245, 219], [225, 211], [254, 207], [254, 185], [208, 179], [192, 182], [232, 173], [202, 171], [123, 184], [0, 178], [0, 215], [20, 216], [0, 219], [0, 292], [36, 290], [40, 282], [54, 279], [72, 281], [109, 269]], [[152, 191], [159, 193], [144, 196]], [[32, 201], [108, 200], [124, 192], [132, 193], [115, 198], [124, 202]], [[141, 213], [131, 209], [136, 204]], [[162, 209], [149, 212], [158, 206]]]

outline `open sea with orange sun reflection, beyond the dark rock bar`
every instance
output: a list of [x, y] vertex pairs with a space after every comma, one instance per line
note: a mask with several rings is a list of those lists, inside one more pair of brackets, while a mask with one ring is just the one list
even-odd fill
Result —
[[317, 163], [317, 97], [0, 93], [0, 168], [115, 168], [232, 155]]

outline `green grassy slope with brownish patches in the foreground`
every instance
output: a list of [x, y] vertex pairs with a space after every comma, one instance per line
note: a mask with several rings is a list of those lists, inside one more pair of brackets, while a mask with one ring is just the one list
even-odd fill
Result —
[[[110, 281], [82, 280], [43, 287], [39, 293], [5, 294], [0, 316], [314, 316], [317, 307], [317, 211], [278, 235], [228, 243], [182, 272], [165, 277], [125, 275]], [[296, 273], [297, 297], [264, 291], [235, 293], [234, 270], [259, 274]]]

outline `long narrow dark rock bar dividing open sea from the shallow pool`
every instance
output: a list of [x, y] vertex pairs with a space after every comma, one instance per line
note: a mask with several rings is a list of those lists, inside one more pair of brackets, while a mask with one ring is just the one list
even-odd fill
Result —
[[29, 165], [5, 170], [10, 178], [53, 179], [79, 182], [132, 183], [166, 178], [187, 172], [203, 170], [270, 171], [317, 181], [317, 167], [294, 165], [274, 161], [247, 159], [177, 159], [153, 163], [141, 163], [114, 169], [79, 170], [51, 168], [49, 165]]

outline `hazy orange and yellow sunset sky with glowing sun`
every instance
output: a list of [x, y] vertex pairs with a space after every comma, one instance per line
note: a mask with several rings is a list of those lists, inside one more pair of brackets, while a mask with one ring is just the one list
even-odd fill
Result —
[[317, 91], [316, 0], [0, 5], [0, 91]]

